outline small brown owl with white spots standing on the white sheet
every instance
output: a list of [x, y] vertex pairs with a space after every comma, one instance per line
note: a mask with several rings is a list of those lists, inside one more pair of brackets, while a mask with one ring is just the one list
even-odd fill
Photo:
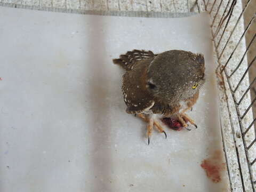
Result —
[[133, 50], [113, 62], [126, 70], [122, 85], [126, 112], [147, 121], [148, 144], [153, 125], [166, 137], [160, 123], [163, 118], [174, 119], [185, 128], [187, 122], [197, 127], [185, 112], [196, 103], [205, 82], [202, 54]]

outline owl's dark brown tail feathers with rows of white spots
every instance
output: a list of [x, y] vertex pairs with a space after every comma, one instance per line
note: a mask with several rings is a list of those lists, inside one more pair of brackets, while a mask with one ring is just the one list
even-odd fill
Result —
[[155, 57], [152, 51], [133, 50], [120, 55], [119, 59], [113, 59], [113, 62], [125, 70], [132, 70], [137, 61]]

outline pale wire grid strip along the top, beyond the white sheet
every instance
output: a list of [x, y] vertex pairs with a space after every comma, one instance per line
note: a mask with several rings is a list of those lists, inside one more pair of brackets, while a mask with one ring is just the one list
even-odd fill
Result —
[[[0, 6], [128, 17], [187, 17], [196, 0], [0, 0]], [[198, 12], [195, 9], [194, 12]], [[195, 14], [195, 13], [194, 13]]]

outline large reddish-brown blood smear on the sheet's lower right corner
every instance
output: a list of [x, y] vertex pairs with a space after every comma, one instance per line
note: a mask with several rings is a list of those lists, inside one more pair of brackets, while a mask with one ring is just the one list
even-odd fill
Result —
[[225, 163], [222, 163], [220, 151], [215, 151], [213, 156], [204, 161], [201, 167], [205, 170], [206, 175], [214, 183], [221, 181], [221, 171], [225, 170]]

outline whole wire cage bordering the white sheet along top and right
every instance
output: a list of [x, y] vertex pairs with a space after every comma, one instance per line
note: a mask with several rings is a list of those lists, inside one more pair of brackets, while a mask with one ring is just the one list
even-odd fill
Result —
[[[60, 5], [54, 7], [56, 2]], [[161, 0], [145, 0], [134, 2], [137, 4], [124, 3], [123, 1], [90, 1], [86, 4], [86, 1], [82, 0], [41, 0], [0, 1], [0, 5], [74, 13], [91, 13], [90, 10], [144, 11], [137, 14], [143, 17], [150, 17], [150, 14], [147, 13], [149, 11], [209, 12], [214, 59], [218, 66], [216, 76], [220, 90], [221, 133], [230, 190], [255, 192], [256, 2], [251, 0], [196, 0], [172, 1], [172, 3]], [[103, 12], [102, 14], [114, 14], [114, 12]], [[157, 14], [151, 15], [151, 17], [154, 16]], [[169, 17], [170, 15], [165, 16]]]

